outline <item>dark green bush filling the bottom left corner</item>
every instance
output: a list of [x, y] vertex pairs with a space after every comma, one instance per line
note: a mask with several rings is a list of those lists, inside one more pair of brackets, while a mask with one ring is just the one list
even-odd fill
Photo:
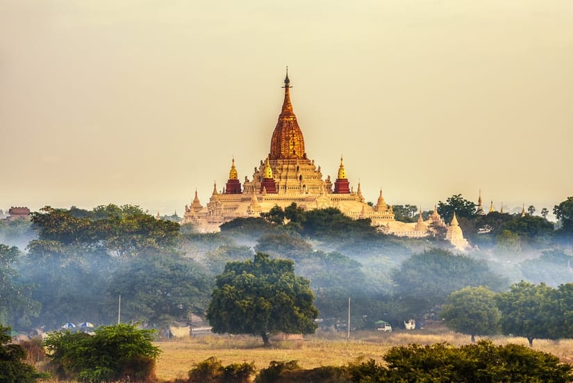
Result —
[[35, 383], [38, 373], [24, 363], [26, 350], [11, 343], [10, 330], [0, 325], [0, 382]]

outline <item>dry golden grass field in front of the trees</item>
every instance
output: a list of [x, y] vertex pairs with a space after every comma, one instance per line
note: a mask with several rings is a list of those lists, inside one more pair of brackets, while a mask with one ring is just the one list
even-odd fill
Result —
[[[527, 345], [524, 338], [492, 337], [496, 344], [517, 343]], [[479, 340], [479, 338], [478, 338]], [[436, 329], [397, 331], [392, 333], [354, 332], [349, 342], [346, 333], [317, 332], [305, 336], [304, 341], [274, 341], [264, 348], [263, 341], [254, 336], [201, 336], [195, 339], [160, 341], [163, 350], [156, 368], [160, 381], [186, 377], [194, 364], [209, 357], [217, 357], [224, 365], [254, 362], [257, 369], [265, 368], [269, 361], [296, 360], [303, 368], [341, 366], [358, 358], [382, 361], [388, 348], [394, 345], [447, 342], [452, 345], [470, 343], [470, 336], [451, 332], [445, 327]], [[551, 352], [563, 361], [573, 364], [573, 340], [546, 341], [535, 339], [533, 348]]]

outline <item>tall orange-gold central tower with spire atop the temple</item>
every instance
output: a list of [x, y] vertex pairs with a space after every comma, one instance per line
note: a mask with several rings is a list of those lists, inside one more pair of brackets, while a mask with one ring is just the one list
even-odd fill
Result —
[[285, 77], [285, 100], [283, 101], [283, 108], [279, 121], [272, 133], [271, 138], [271, 151], [269, 158], [276, 159], [297, 159], [306, 158], [304, 150], [304, 137], [297, 122], [297, 116], [292, 111], [292, 104], [290, 103], [290, 80], [288, 79], [288, 68]]

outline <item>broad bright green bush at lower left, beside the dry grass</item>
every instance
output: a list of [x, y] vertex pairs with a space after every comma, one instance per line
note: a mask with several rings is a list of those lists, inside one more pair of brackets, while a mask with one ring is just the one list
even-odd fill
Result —
[[102, 326], [95, 334], [53, 332], [44, 345], [56, 375], [81, 382], [147, 381], [160, 350], [154, 330], [136, 325]]

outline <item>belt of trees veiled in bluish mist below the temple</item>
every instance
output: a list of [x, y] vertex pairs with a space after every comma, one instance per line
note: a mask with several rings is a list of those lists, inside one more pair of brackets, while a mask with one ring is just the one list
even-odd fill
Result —
[[[454, 195], [443, 207], [466, 201]], [[215, 276], [226, 263], [252, 260], [260, 251], [269, 259], [292, 260], [296, 275], [310, 282], [325, 323], [345, 323], [350, 297], [353, 328], [374, 329], [376, 320], [399, 328], [409, 318], [439, 318], [440, 305], [466, 286], [499, 292], [524, 279], [558, 291], [573, 275], [573, 236], [564, 230], [569, 201], [556, 206], [557, 230], [538, 215], [460, 217], [476, 245], [465, 255], [440, 238], [397, 238], [336, 209], [304, 211], [295, 204], [227, 222], [209, 234], [156, 220], [138, 206], [47, 206], [33, 222], [0, 225], [0, 238], [11, 243], [30, 238], [25, 251], [0, 247], [0, 293], [18, 292], [3, 295], [0, 315], [23, 332], [66, 322], [115, 323], [121, 294], [122, 320], [185, 325], [190, 314], [204, 318]], [[567, 311], [569, 300], [558, 301], [558, 312]], [[563, 328], [551, 336], [570, 336]]]

